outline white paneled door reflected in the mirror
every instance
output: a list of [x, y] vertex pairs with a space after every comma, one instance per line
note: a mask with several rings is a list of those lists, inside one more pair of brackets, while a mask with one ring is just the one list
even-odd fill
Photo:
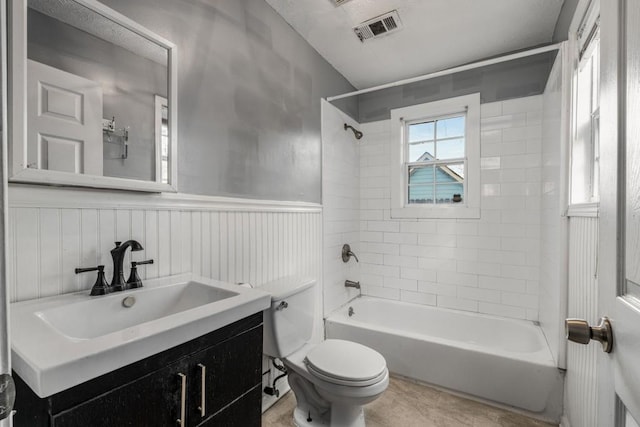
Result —
[[102, 87], [32, 60], [27, 82], [29, 166], [102, 175]]

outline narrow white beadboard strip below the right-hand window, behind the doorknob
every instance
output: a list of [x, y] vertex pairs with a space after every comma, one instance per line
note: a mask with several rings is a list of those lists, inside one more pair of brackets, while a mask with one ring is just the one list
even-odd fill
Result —
[[[598, 323], [598, 218], [569, 220], [568, 317]], [[596, 427], [599, 345], [568, 343], [565, 413], [573, 426]]]

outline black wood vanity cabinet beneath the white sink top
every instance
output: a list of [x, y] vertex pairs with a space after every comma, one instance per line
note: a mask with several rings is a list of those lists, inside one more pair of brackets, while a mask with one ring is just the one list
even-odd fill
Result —
[[261, 363], [260, 312], [47, 398], [14, 373], [14, 425], [259, 426]]

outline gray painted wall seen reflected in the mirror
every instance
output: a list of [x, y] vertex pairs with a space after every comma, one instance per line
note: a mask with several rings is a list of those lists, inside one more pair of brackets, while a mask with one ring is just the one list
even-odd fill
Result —
[[103, 175], [155, 180], [154, 95], [167, 96], [167, 67], [33, 9], [28, 27], [29, 59], [100, 83], [102, 118], [130, 128], [127, 159], [104, 138]]

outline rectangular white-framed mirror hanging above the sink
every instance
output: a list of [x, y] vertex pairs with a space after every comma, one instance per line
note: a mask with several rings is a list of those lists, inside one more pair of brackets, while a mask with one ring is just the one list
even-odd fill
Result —
[[10, 4], [11, 181], [176, 191], [175, 45], [92, 0]]

